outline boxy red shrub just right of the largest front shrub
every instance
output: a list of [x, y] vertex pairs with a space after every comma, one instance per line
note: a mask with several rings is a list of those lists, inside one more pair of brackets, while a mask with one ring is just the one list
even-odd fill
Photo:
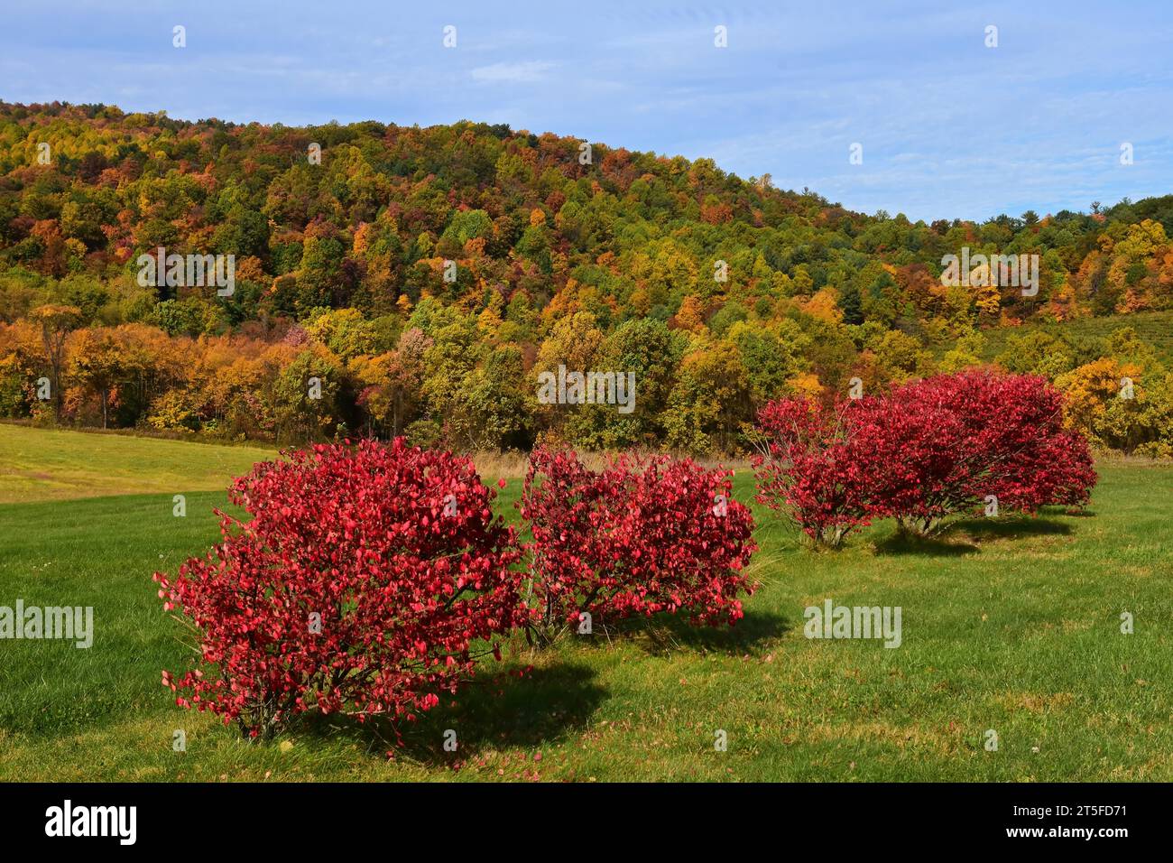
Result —
[[693, 622], [739, 620], [757, 546], [731, 476], [666, 456], [621, 457], [595, 473], [574, 452], [535, 451], [521, 510], [545, 621], [680, 609]]

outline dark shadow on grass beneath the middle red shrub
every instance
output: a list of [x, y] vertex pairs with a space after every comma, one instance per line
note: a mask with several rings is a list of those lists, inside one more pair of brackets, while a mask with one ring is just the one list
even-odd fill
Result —
[[772, 612], [747, 611], [737, 626], [693, 626], [686, 614], [658, 614], [651, 620], [630, 619], [599, 628], [592, 641], [605, 648], [609, 638], [624, 640], [656, 655], [689, 649], [740, 656], [789, 628], [786, 618]]

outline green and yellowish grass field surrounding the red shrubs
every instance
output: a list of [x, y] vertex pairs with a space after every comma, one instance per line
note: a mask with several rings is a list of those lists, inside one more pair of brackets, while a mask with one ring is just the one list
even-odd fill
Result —
[[[737, 628], [518, 641], [388, 760], [348, 723], [245, 743], [160, 685], [188, 647], [150, 575], [216, 540], [224, 494], [201, 490], [257, 457], [0, 426], [0, 605], [94, 606], [96, 629], [90, 649], [0, 641], [0, 780], [1173, 780], [1168, 466], [1101, 465], [1084, 515], [960, 522], [917, 546], [881, 524], [814, 553], [759, 512], [761, 589]], [[737, 490], [748, 501], [752, 477]], [[518, 492], [500, 498], [509, 518]], [[60, 499], [84, 494], [108, 497]], [[806, 639], [804, 608], [828, 598], [901, 606], [902, 646]]]

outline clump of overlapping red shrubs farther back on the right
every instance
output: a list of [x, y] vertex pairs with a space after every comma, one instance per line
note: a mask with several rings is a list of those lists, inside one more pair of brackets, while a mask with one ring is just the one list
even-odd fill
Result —
[[929, 533], [952, 513], [1083, 505], [1096, 472], [1063, 410], [1042, 377], [983, 371], [830, 407], [774, 402], [759, 413], [759, 500], [832, 546], [873, 518]]

